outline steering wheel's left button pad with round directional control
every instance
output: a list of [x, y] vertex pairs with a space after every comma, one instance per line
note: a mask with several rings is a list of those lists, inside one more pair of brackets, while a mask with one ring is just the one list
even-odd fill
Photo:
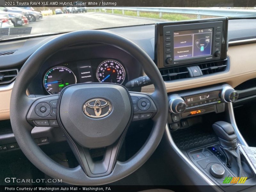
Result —
[[38, 127], [58, 127], [56, 108], [59, 95], [40, 97], [32, 103], [27, 121]]

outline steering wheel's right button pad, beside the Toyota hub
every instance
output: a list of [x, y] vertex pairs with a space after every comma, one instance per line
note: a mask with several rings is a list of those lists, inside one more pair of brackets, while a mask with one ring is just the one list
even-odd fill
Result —
[[155, 102], [150, 94], [129, 92], [132, 98], [133, 117], [132, 121], [153, 118], [157, 113]]

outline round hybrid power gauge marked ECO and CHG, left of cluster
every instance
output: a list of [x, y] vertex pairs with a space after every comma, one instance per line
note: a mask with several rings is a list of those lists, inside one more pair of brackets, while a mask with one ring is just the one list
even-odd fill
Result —
[[70, 69], [58, 66], [47, 71], [43, 84], [48, 93], [56, 94], [64, 87], [76, 84], [76, 76]]

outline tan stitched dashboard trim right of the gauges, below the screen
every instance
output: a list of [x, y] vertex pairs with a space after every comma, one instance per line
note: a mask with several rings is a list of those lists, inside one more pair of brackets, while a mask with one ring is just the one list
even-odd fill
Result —
[[[213, 76], [190, 78], [176, 82], [165, 82], [166, 91], [174, 92], [218, 83], [227, 83], [232, 87], [256, 77], [256, 44], [231, 46], [228, 48], [230, 69], [227, 73]], [[153, 92], [154, 86], [142, 87], [142, 92]]]

